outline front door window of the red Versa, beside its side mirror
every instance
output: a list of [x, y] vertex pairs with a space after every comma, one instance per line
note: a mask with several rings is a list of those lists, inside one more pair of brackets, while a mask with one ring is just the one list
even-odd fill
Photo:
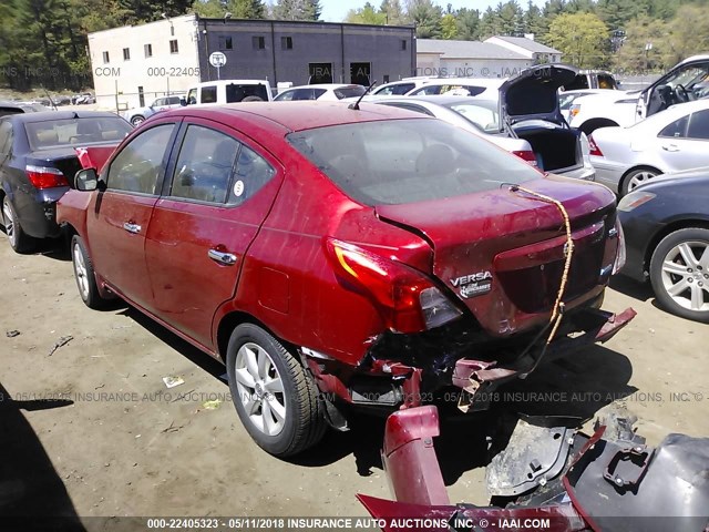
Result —
[[111, 163], [106, 186], [114, 191], [155, 194], [174, 129], [175, 124], [158, 125], [133, 139]]

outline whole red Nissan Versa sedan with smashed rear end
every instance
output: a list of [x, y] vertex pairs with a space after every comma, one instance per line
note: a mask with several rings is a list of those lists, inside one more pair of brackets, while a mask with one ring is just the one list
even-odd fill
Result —
[[75, 187], [58, 218], [84, 303], [119, 296], [223, 360], [276, 456], [345, 428], [343, 403], [485, 408], [634, 314], [599, 310], [624, 249], [607, 188], [398, 109], [169, 111]]

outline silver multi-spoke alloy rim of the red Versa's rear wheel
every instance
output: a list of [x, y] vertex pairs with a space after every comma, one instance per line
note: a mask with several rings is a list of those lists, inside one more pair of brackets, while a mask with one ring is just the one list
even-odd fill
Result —
[[282, 380], [268, 352], [257, 344], [244, 344], [236, 354], [235, 378], [250, 422], [266, 436], [278, 436], [288, 409]]

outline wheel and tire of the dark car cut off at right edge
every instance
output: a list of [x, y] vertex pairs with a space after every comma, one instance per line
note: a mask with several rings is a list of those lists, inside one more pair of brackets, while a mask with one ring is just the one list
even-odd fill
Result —
[[709, 324], [709, 229], [685, 228], [662, 238], [650, 259], [650, 283], [667, 310]]

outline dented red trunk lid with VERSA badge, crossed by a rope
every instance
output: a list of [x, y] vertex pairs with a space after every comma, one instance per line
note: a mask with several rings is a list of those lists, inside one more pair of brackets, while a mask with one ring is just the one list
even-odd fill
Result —
[[[571, 222], [574, 257], [567, 308], [598, 295], [608, 280], [617, 238], [615, 196], [606, 187], [548, 176], [523, 185], [562, 202]], [[376, 207], [383, 222], [422, 235], [433, 248], [433, 270], [495, 336], [548, 319], [566, 244], [554, 204], [508, 187], [439, 201]]]

